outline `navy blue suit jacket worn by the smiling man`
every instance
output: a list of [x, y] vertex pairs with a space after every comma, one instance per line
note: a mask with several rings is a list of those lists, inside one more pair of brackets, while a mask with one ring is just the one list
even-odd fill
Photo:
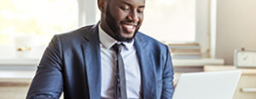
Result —
[[[137, 32], [135, 47], [144, 99], [171, 99], [173, 69], [168, 47]], [[56, 35], [46, 48], [27, 93], [28, 99], [101, 98], [101, 52], [98, 25]]]

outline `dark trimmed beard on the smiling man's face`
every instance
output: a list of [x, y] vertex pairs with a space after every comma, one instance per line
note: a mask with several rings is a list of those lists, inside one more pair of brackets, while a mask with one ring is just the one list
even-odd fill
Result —
[[[139, 27], [134, 31], [133, 36], [131, 37], [124, 37], [121, 35], [121, 30], [120, 30], [120, 23], [113, 17], [113, 15], [110, 13], [109, 9], [109, 4], [107, 6], [107, 11], [106, 11], [106, 22], [110, 30], [113, 31], [113, 38], [116, 39], [117, 41], [127, 41], [130, 42], [133, 40], [133, 38], [136, 36], [137, 31], [139, 30]], [[127, 20], [126, 22], [132, 23], [132, 20], [129, 21]], [[118, 24], [119, 23], [119, 24]]]

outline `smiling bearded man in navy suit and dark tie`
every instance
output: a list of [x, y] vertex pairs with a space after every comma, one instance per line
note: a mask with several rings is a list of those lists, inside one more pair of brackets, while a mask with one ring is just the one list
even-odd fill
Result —
[[170, 99], [168, 47], [138, 32], [145, 0], [98, 0], [97, 25], [56, 35], [44, 52], [28, 99]]

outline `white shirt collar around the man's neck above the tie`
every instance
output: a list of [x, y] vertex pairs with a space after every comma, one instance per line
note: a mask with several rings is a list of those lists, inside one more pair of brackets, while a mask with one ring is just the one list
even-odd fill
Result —
[[109, 36], [104, 30], [102, 30], [101, 24], [98, 25], [99, 27], [99, 39], [102, 43], [103, 47], [106, 47], [108, 49], [110, 49], [111, 47], [113, 47], [113, 45], [115, 43], [123, 43], [125, 45], [125, 49], [126, 50], [130, 50], [131, 47], [133, 47], [134, 44], [134, 39], [132, 41], [116, 41], [115, 39], [113, 39], [113, 37]]

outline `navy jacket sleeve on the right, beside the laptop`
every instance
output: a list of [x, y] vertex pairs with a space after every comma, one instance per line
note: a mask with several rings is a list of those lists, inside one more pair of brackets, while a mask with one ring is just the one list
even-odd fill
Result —
[[172, 58], [169, 52], [169, 48], [166, 46], [166, 63], [163, 69], [163, 87], [161, 93], [161, 99], [172, 99], [172, 95], [174, 92], [173, 86], [173, 68], [172, 68]]

